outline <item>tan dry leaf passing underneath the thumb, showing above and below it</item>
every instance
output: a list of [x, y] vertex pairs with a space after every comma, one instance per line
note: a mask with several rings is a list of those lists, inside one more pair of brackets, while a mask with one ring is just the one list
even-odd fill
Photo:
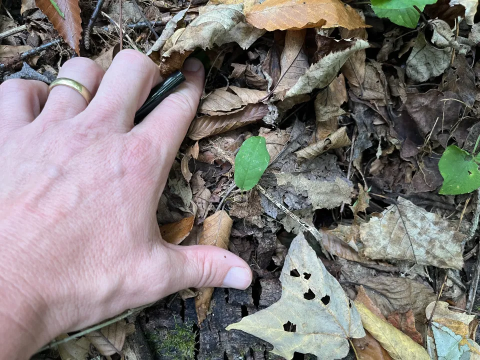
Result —
[[[203, 221], [203, 230], [200, 235], [199, 245], [212, 245], [228, 249], [230, 241], [230, 230], [233, 220], [228, 216], [225, 210], [215, 212]], [[198, 317], [198, 324], [206, 318], [208, 307], [210, 306], [213, 287], [203, 287], [199, 289], [195, 297], [195, 309]]]

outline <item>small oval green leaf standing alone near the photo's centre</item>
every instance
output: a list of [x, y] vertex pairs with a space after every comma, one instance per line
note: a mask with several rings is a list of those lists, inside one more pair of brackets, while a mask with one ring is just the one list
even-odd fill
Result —
[[270, 162], [263, 136], [247, 138], [235, 156], [234, 179], [240, 190], [255, 186]]

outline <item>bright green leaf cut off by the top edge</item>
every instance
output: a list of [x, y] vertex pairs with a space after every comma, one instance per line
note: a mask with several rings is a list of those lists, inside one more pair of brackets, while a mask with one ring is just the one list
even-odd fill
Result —
[[413, 7], [416, 5], [423, 11], [425, 5], [437, 0], [371, 0], [371, 8], [378, 17], [388, 17], [391, 22], [400, 26], [414, 28], [420, 14]]

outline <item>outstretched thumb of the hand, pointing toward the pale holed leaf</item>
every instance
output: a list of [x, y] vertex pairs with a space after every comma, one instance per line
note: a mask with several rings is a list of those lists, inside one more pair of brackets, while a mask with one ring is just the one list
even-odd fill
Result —
[[251, 283], [250, 267], [230, 251], [209, 245], [166, 246], [173, 270], [170, 273], [172, 292], [187, 287], [233, 287], [243, 290]]

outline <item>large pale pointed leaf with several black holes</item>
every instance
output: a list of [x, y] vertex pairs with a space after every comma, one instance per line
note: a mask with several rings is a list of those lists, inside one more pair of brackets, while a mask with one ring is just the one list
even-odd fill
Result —
[[355, 306], [301, 232], [291, 242], [280, 281], [277, 302], [226, 329], [260, 337], [286, 359], [295, 351], [339, 359], [348, 353], [348, 338], [365, 336]]

